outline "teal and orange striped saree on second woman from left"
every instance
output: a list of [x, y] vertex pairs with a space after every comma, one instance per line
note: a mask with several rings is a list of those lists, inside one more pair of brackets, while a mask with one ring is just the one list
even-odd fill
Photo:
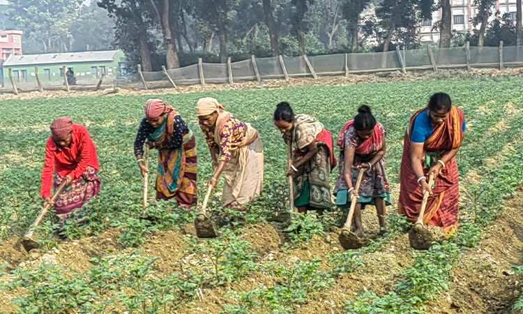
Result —
[[[149, 135], [149, 140], [159, 144], [169, 144], [174, 130], [174, 118], [179, 113], [172, 110], [163, 123]], [[197, 200], [197, 154], [196, 140], [192, 131], [183, 135], [179, 149], [158, 150], [158, 170], [156, 173], [156, 198], [170, 200], [176, 197], [179, 206], [190, 208]]]

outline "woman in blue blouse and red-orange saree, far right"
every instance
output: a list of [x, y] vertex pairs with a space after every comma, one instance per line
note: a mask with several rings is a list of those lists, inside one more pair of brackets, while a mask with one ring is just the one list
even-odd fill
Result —
[[[444, 93], [434, 94], [428, 107], [411, 117], [404, 138], [398, 204], [398, 211], [409, 221], [418, 218], [423, 193], [428, 190], [423, 223], [444, 227], [446, 234], [457, 230], [460, 186], [455, 156], [464, 132], [462, 110], [453, 106], [450, 96]], [[431, 172], [434, 188], [427, 183]]]

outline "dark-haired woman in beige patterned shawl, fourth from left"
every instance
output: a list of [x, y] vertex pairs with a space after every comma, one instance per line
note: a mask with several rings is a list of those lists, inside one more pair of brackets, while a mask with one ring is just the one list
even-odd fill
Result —
[[287, 176], [294, 178], [294, 206], [300, 213], [316, 210], [318, 216], [330, 209], [331, 171], [338, 161], [333, 151], [333, 135], [316, 118], [294, 114], [289, 103], [280, 103], [274, 112], [274, 124], [285, 140], [294, 145], [292, 167]]

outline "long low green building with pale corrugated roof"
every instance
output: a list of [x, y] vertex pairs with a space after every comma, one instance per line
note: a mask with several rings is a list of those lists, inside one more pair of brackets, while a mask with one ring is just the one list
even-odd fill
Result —
[[11, 68], [17, 86], [36, 84], [36, 66], [44, 85], [63, 84], [63, 66], [73, 69], [78, 84], [96, 83], [102, 73], [106, 77], [126, 75], [126, 58], [121, 50], [66, 52], [11, 55], [3, 63], [3, 81], [10, 84]]

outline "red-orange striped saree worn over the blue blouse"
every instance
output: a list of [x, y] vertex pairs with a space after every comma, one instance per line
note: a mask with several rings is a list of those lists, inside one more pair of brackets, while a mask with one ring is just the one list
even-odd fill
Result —
[[[397, 210], [407, 216], [407, 220], [415, 222], [420, 213], [423, 195], [418, 178], [412, 170], [411, 163], [411, 134], [414, 121], [418, 114], [428, 110], [420, 110], [411, 117], [409, 128], [404, 135], [404, 149], [400, 172], [400, 201]], [[464, 114], [457, 107], [452, 107], [448, 119], [434, 130], [434, 134], [423, 144], [425, 158], [423, 158], [423, 172], [427, 178], [430, 167], [437, 163], [437, 158], [444, 151], [458, 149], [463, 142]], [[423, 223], [444, 227], [446, 234], [457, 231], [457, 209], [460, 201], [460, 181], [457, 172], [456, 158], [452, 158], [441, 169], [439, 177], [434, 181], [432, 195], [427, 200]]]

